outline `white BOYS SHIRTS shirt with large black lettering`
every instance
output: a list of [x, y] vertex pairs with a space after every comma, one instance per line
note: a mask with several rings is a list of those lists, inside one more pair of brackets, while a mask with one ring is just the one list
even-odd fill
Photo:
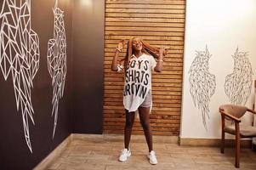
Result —
[[[151, 71], [155, 66], [156, 60], [148, 54], [142, 54], [139, 58], [133, 55], [130, 59], [123, 89], [123, 105], [129, 112], [136, 111], [151, 92]], [[118, 71], [122, 69], [123, 66], [118, 65]]]

